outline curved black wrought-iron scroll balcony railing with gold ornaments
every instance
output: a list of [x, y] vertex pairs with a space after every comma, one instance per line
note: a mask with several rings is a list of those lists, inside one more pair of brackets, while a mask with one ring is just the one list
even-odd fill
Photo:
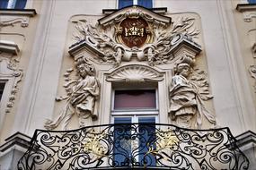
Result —
[[36, 130], [18, 169], [248, 169], [249, 160], [235, 142], [228, 128], [189, 130], [157, 123]]

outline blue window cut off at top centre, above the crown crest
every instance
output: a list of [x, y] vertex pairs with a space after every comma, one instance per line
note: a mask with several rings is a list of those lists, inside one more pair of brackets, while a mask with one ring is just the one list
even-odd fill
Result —
[[153, 7], [152, 0], [119, 0], [119, 9], [133, 4], [144, 6], [146, 8]]

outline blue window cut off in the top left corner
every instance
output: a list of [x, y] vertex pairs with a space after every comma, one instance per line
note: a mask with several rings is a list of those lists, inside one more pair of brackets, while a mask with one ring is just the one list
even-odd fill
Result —
[[0, 8], [2, 9], [24, 9], [27, 0], [0, 0]]

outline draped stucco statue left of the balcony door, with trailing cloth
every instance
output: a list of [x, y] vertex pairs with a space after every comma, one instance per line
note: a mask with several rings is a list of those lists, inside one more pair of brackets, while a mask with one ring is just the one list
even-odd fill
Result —
[[70, 80], [69, 75], [73, 69], [68, 69], [67, 74], [65, 74], [68, 79], [64, 85], [66, 96], [56, 98], [57, 101], [66, 100], [66, 106], [54, 121], [48, 120], [45, 123], [46, 129], [55, 129], [64, 120], [62, 129], [66, 130], [68, 123], [75, 114], [78, 116], [79, 127], [88, 125], [86, 119], [90, 117], [93, 120], [97, 119], [97, 115], [94, 114], [94, 107], [99, 97], [100, 84], [95, 77], [95, 68], [84, 56], [75, 60], [75, 68], [79, 78]]

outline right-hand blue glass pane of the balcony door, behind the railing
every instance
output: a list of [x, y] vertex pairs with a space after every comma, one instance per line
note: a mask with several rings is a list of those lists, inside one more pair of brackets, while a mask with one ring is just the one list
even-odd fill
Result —
[[155, 117], [139, 117], [138, 123], [138, 132], [141, 133], [139, 135], [139, 162], [142, 165], [155, 166], [155, 157], [152, 154], [146, 154], [148, 153], [148, 149], [155, 147]]

